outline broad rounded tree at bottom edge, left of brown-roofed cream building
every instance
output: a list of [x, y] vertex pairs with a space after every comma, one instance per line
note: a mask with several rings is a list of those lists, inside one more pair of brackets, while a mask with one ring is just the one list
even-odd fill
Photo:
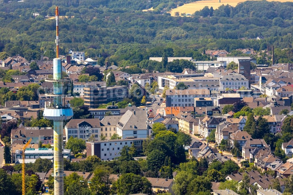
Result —
[[138, 194], [151, 192], [147, 178], [133, 173], [122, 174], [113, 184], [117, 194]]

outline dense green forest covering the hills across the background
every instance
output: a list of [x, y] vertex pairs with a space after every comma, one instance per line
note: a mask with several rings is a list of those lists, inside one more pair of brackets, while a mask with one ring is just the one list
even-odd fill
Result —
[[[61, 54], [74, 48], [85, 51], [86, 57], [100, 55], [101, 64], [107, 60], [119, 66], [148, 66], [152, 63], [149, 57], [161, 57], [163, 53], [206, 60], [209, 57], [201, 54], [204, 49], [260, 51], [268, 45], [277, 48], [276, 62], [293, 61], [291, 2], [246, 1], [235, 8], [205, 8], [193, 17], [144, 13], [137, 10], [145, 8], [146, 1], [134, 2], [26, 0], [0, 4], [0, 51], [29, 60], [40, 59], [41, 55], [53, 58], [55, 20], [45, 20], [45, 16], [54, 15], [58, 4], [60, 15], [73, 16], [60, 20]], [[152, 4], [168, 6], [170, 2], [156, 0]], [[199, 17], [207, 11], [211, 17]], [[265, 38], [256, 40], [258, 35]], [[240, 39], [243, 37], [246, 39]]]

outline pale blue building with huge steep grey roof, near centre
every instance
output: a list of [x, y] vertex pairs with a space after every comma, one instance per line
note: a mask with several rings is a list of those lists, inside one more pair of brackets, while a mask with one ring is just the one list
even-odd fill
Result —
[[120, 117], [116, 125], [117, 134], [125, 138], [147, 138], [149, 135], [147, 112], [145, 110], [130, 111]]

